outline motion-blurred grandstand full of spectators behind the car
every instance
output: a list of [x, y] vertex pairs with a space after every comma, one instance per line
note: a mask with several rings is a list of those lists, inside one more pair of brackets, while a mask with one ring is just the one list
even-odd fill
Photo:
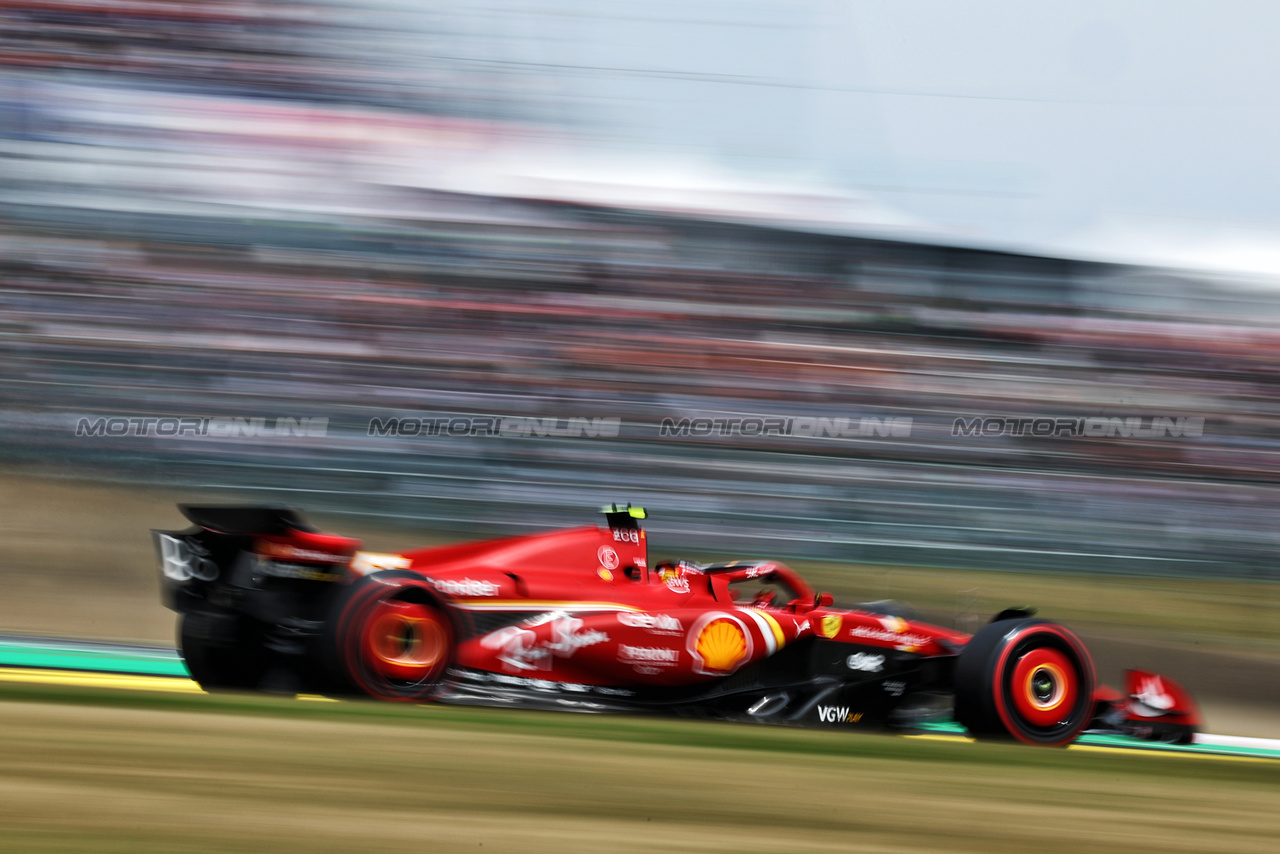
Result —
[[[535, 175], [554, 124], [479, 97], [486, 69], [371, 60], [355, 13], [0, 3], [0, 458], [425, 529], [632, 501], [663, 544], [735, 553], [1276, 575], [1268, 283], [908, 241], [855, 198]], [[111, 416], [328, 429], [77, 437]], [[370, 430], [449, 416], [621, 430]], [[911, 428], [660, 428], [753, 416]], [[1204, 426], [954, 435], [980, 416]]]

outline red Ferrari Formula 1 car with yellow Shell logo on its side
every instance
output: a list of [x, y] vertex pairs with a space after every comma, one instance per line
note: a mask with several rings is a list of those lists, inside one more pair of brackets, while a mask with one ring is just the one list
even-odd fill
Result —
[[1097, 686], [1064, 626], [1010, 609], [975, 635], [893, 603], [833, 604], [782, 563], [652, 566], [637, 507], [594, 525], [397, 554], [284, 507], [180, 507], [154, 531], [164, 602], [206, 689], [364, 693], [832, 727], [955, 718], [1062, 745], [1089, 727], [1189, 740], [1171, 680]]

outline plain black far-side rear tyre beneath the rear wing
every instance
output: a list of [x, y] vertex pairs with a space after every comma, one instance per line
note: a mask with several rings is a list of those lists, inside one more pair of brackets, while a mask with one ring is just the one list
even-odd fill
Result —
[[195, 611], [179, 617], [182, 659], [206, 691], [257, 688], [265, 670], [260, 640], [233, 613]]

